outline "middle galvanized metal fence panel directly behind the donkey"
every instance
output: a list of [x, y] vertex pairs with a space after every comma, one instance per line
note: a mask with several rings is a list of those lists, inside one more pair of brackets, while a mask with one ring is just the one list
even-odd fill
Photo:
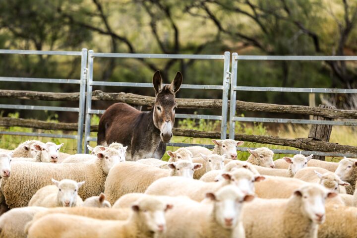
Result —
[[[221, 120], [221, 138], [227, 138], [227, 113], [228, 113], [228, 92], [230, 88], [230, 52], [225, 52], [224, 55], [165, 55], [165, 54], [119, 54], [119, 53], [88, 53], [88, 79], [87, 79], [87, 102], [86, 102], [86, 117], [85, 117], [85, 151], [87, 152], [87, 144], [89, 141], [96, 141], [96, 138], [90, 137], [90, 121], [92, 114], [103, 114], [105, 110], [92, 109], [92, 90], [93, 86], [130, 86], [130, 87], [153, 87], [151, 83], [134, 83], [134, 82], [103, 82], [93, 81], [93, 64], [95, 57], [109, 58], [149, 58], [149, 59], [195, 59], [195, 60], [224, 60], [223, 68], [223, 83], [222, 85], [191, 85], [182, 84], [180, 88], [184, 89], [215, 89], [222, 90], [222, 115], [191, 115], [191, 114], [176, 114], [175, 118], [190, 118], [190, 119], [214, 119]], [[168, 143], [169, 146], [177, 146], [178, 143]], [[188, 143], [179, 143], [180, 146], [190, 146]], [[211, 148], [212, 145], [204, 145]]]

